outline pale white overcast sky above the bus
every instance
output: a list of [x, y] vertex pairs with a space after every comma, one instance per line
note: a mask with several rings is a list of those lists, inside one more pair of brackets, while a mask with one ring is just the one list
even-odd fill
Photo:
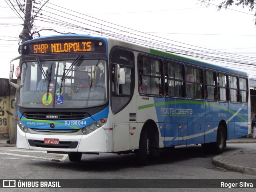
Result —
[[[0, 0], [0, 78], [9, 78], [10, 60], [19, 55], [24, 14], [17, 2]], [[34, 6], [42, 9], [33, 22], [34, 37], [70, 32], [111, 35], [189, 56], [200, 54], [196, 59], [243, 70], [256, 78], [255, 16], [248, 8], [233, 5], [218, 11], [221, 0], [211, 1], [215, 5], [207, 8], [199, 0], [36, 2], [40, 4]], [[222, 61], [209, 60], [209, 56]]]

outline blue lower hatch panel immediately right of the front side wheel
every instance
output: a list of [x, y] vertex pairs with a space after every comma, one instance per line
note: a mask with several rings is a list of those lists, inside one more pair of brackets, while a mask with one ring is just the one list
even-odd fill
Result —
[[178, 145], [178, 124], [165, 124], [164, 146]]

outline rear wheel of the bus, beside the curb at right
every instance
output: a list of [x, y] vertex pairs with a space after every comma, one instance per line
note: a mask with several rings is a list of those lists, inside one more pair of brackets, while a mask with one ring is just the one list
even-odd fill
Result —
[[216, 154], [221, 154], [226, 146], [226, 132], [224, 126], [220, 125], [217, 132], [217, 141], [212, 144], [212, 149]]

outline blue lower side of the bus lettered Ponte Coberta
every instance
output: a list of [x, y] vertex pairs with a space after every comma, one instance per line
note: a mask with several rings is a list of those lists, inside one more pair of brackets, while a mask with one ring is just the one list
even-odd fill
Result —
[[220, 120], [225, 120], [228, 140], [248, 132], [248, 105], [184, 99], [154, 98], [164, 146], [216, 142]]

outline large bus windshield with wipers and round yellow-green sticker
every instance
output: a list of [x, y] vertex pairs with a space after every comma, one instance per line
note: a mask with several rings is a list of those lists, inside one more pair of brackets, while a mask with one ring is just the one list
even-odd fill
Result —
[[22, 63], [19, 105], [74, 108], [102, 105], [108, 98], [106, 61], [40, 60]]

